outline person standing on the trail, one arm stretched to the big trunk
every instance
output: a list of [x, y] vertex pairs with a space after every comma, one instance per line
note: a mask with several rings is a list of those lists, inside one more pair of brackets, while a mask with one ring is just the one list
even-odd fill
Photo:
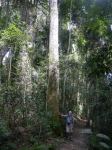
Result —
[[65, 117], [65, 123], [66, 123], [66, 137], [71, 140], [73, 135], [73, 126], [74, 126], [74, 120], [72, 111], [69, 111], [67, 115], [61, 115], [62, 117]]

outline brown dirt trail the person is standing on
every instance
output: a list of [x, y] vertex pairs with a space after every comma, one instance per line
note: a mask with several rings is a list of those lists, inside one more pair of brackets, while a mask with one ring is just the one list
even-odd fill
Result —
[[91, 130], [83, 125], [75, 127], [72, 140], [64, 140], [57, 150], [88, 150], [89, 133]]

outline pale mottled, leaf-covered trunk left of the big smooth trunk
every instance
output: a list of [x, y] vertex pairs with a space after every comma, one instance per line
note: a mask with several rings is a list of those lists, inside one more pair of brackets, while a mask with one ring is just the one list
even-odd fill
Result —
[[34, 103], [32, 101], [32, 66], [28, 53], [29, 48], [33, 48], [33, 18], [31, 11], [32, 8], [29, 8], [26, 4], [26, 1], [23, 2], [24, 5], [21, 6], [21, 20], [27, 22], [27, 36], [30, 38], [25, 41], [24, 45], [21, 47], [19, 52], [19, 61], [18, 68], [20, 69], [19, 78], [20, 78], [20, 89], [22, 95], [22, 104], [23, 104], [23, 121], [25, 125], [28, 125], [27, 119], [30, 113], [34, 111]]

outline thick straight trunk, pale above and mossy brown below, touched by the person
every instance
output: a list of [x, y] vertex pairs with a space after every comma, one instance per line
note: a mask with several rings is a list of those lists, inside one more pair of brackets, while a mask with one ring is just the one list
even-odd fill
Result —
[[59, 52], [58, 52], [58, 6], [57, 0], [50, 0], [49, 37], [49, 78], [48, 109], [57, 115], [59, 112]]

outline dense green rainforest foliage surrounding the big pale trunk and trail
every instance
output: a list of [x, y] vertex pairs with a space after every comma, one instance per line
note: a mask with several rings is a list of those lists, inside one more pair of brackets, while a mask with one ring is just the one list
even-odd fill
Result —
[[[112, 2], [58, 0], [58, 9], [59, 111], [72, 110], [92, 120], [93, 141], [100, 132], [112, 138]], [[47, 0], [0, 1], [0, 146], [4, 150], [16, 149], [18, 143], [30, 147], [37, 141], [34, 147], [41, 147], [45, 139], [63, 134], [60, 118], [53, 118], [47, 106], [49, 16]]]

